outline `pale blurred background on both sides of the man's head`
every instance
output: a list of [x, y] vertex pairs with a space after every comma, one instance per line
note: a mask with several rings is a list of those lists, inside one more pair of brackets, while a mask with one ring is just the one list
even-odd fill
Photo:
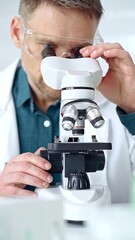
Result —
[[[120, 42], [135, 59], [135, 0], [101, 0], [104, 16], [99, 25], [104, 41]], [[10, 20], [19, 0], [0, 1], [0, 70], [20, 56], [10, 37]]]

